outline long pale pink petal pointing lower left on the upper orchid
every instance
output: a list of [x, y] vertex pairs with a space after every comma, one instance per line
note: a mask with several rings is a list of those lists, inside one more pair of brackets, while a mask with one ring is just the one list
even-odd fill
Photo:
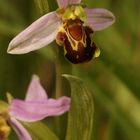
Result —
[[48, 45], [55, 39], [60, 24], [55, 12], [42, 16], [10, 42], [7, 52], [24, 54]]

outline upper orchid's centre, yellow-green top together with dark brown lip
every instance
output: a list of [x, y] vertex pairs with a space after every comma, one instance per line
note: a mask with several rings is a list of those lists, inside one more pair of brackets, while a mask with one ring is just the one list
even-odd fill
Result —
[[70, 5], [56, 11], [62, 19], [56, 42], [64, 48], [65, 57], [72, 63], [83, 63], [98, 57], [100, 50], [91, 41], [93, 30], [85, 25], [87, 16], [81, 5]]

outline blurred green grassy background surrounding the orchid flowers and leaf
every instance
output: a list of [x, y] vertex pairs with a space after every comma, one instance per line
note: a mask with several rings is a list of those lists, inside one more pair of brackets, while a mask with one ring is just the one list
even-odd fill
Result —
[[[140, 1], [83, 0], [91, 8], [111, 10], [116, 22], [96, 32], [101, 55], [73, 65], [52, 44], [24, 55], [10, 55], [10, 40], [34, 20], [57, 8], [55, 0], [0, 0], [0, 98], [5, 93], [23, 98], [32, 74], [38, 74], [50, 96], [56, 71], [80, 77], [95, 101], [94, 140], [140, 139]], [[58, 59], [59, 58], [59, 59]], [[57, 90], [57, 89], [56, 89]], [[70, 92], [64, 89], [64, 92]], [[86, 113], [86, 112], [85, 112]]]

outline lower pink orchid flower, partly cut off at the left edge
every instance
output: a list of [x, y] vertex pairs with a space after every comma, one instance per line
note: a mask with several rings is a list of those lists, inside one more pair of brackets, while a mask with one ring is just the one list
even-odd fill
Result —
[[9, 135], [10, 129], [6, 121], [15, 130], [20, 140], [32, 140], [30, 134], [20, 121], [35, 122], [48, 116], [61, 115], [69, 110], [70, 98], [63, 96], [59, 99], [48, 99], [45, 90], [40, 85], [39, 78], [34, 75], [29, 84], [25, 101], [12, 99], [9, 105], [5, 104], [5, 102], [0, 101], [1, 140], [4, 140]]

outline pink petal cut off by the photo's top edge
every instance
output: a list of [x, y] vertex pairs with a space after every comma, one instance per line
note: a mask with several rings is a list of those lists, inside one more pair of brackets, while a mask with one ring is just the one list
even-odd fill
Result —
[[81, 0], [57, 0], [60, 8], [66, 8], [69, 4], [78, 4]]

